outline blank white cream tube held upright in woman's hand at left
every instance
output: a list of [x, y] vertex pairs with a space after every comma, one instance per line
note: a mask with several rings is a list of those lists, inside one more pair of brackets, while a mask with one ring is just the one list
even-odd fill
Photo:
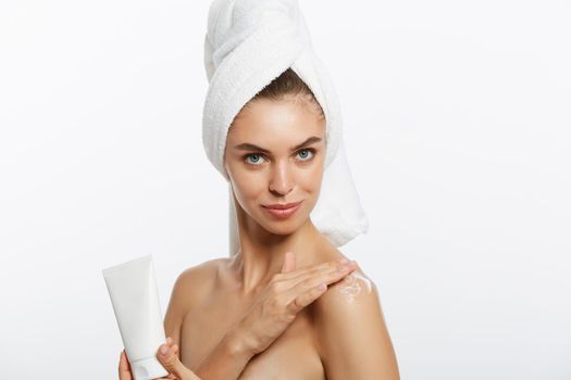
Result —
[[135, 380], [167, 376], [157, 359], [166, 339], [152, 255], [103, 269], [103, 277]]

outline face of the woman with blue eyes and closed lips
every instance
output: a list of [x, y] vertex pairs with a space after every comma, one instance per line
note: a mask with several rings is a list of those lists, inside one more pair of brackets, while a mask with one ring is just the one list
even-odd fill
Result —
[[[265, 230], [286, 235], [313, 210], [325, 156], [325, 119], [295, 98], [251, 101], [226, 137], [224, 165], [239, 206]], [[301, 202], [288, 217], [268, 205]]]

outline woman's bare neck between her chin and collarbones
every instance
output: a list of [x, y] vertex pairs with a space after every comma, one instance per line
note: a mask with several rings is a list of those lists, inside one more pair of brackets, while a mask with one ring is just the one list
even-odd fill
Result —
[[288, 235], [276, 235], [265, 230], [241, 207], [237, 207], [240, 249], [231, 259], [231, 268], [240, 283], [244, 295], [255, 295], [281, 273], [284, 255], [290, 251], [296, 256], [296, 269], [312, 263], [310, 255], [324, 237], [313, 226], [311, 218]]

